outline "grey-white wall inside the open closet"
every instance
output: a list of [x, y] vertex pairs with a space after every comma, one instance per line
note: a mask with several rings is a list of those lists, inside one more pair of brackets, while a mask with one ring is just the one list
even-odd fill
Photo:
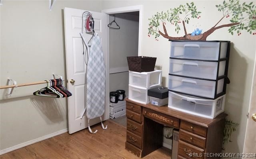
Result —
[[[111, 70], [122, 70], [125, 67], [127, 67], [126, 71], [128, 71], [126, 57], [138, 56], [138, 16], [125, 13], [114, 15], [120, 29], [109, 29], [110, 72]], [[113, 20], [114, 17], [110, 16], [109, 22]], [[112, 24], [112, 26], [116, 25]], [[110, 91], [122, 89], [125, 90], [125, 94], [128, 96], [128, 83], [128, 72], [110, 74]]]

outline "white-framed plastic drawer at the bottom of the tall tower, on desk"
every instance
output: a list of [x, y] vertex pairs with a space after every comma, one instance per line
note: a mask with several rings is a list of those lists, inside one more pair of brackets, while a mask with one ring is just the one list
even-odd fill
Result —
[[168, 107], [196, 116], [213, 119], [218, 114], [224, 112], [225, 97], [223, 95], [215, 100], [210, 100], [184, 96], [169, 91]]

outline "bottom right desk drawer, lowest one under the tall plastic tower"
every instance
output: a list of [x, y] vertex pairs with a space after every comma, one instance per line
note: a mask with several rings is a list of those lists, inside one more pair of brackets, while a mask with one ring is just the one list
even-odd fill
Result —
[[[189, 154], [192, 157], [189, 157]], [[204, 150], [179, 140], [178, 154], [185, 158], [203, 159]]]

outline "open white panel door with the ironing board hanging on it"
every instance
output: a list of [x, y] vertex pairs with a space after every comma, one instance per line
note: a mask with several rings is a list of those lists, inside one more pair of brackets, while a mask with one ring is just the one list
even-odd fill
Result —
[[[82, 14], [86, 10], [73, 8], [64, 9], [65, 43], [66, 43], [66, 71], [67, 86], [72, 96], [68, 97], [68, 131], [74, 133], [88, 127], [86, 114], [80, 119], [80, 114], [86, 105], [86, 65], [84, 63], [83, 46], [80, 32], [82, 31]], [[103, 120], [109, 118], [109, 58], [107, 50], [108, 37], [106, 31], [106, 14], [91, 12], [94, 18], [94, 31], [102, 39], [102, 48], [106, 63], [106, 108], [102, 116]], [[85, 33], [88, 42], [92, 34]], [[73, 84], [70, 82], [73, 80]], [[90, 120], [90, 125], [100, 122], [100, 118]]]

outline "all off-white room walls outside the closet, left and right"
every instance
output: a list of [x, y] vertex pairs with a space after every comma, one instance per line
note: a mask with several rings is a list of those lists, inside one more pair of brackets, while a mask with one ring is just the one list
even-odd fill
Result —
[[[157, 57], [156, 65], [168, 75], [170, 42], [163, 37], [155, 41], [148, 37], [148, 18], [156, 12], [166, 11], [187, 1], [56, 1], [52, 11], [48, 1], [4, 1], [0, 7], [0, 85], [11, 77], [18, 83], [51, 79], [51, 73], [65, 75], [64, 7], [99, 11], [143, 4], [142, 55]], [[191, 2], [191, 1], [188, 1]], [[221, 16], [215, 5], [222, 1], [194, 1], [202, 12], [198, 21], [191, 21], [187, 30], [195, 27], [203, 31], [212, 27]], [[168, 25], [169, 35], [176, 35]], [[226, 152], [242, 152], [246, 114], [248, 112], [256, 37], [245, 31], [239, 37], [228, 34], [228, 28], [215, 31], [207, 40], [232, 41], [227, 86], [226, 113], [228, 118], [240, 123], [232, 134]], [[181, 33], [180, 33], [181, 34]], [[51, 57], [51, 58], [49, 58]], [[56, 60], [58, 58], [58, 60]], [[46, 65], [47, 63], [47, 65]], [[164, 84], [168, 85], [168, 82]], [[32, 92], [45, 85], [16, 88], [13, 96], [6, 98], [0, 90], [0, 150], [42, 137], [67, 128], [65, 99], [32, 96]], [[5, 99], [6, 98], [6, 99]]]

